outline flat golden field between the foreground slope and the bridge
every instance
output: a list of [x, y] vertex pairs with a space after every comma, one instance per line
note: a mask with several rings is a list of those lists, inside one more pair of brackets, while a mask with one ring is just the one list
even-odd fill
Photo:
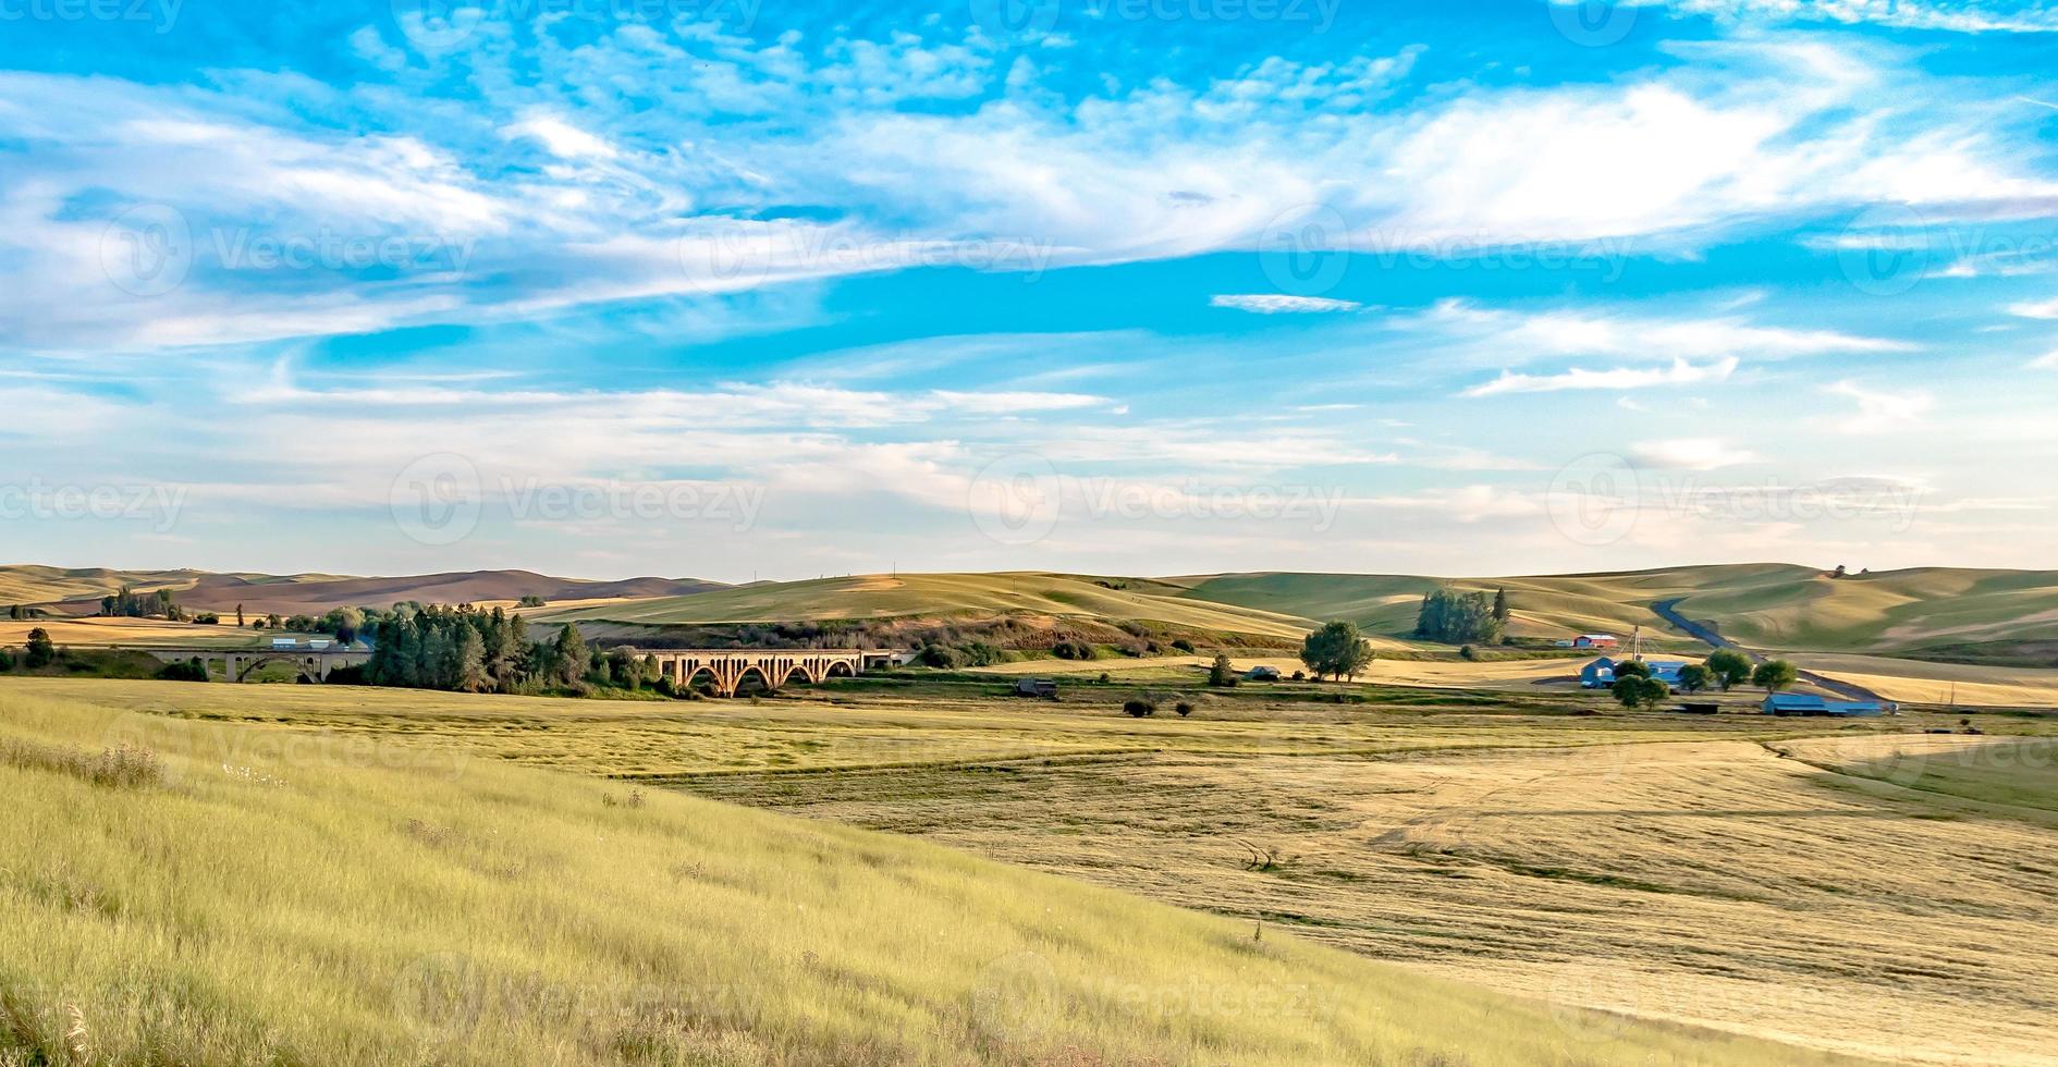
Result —
[[12, 689], [212, 724], [228, 763], [247, 726], [407, 738], [924, 837], [1541, 999], [1574, 1040], [1628, 1026], [1576, 1011], [1601, 1007], [1881, 1061], [2058, 1061], [2058, 826], [2035, 802], [2054, 761], [1998, 736], [2046, 720], [1922, 736], [1955, 720], [1373, 687], [1387, 703], [1192, 693], [1192, 718], [1150, 720], [1115, 709], [1120, 685], [1056, 705], [998, 683], [694, 703]]

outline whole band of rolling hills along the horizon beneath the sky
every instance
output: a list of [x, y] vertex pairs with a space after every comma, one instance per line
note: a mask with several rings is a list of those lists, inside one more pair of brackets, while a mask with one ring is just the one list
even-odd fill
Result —
[[[2058, 662], [2058, 572], [1916, 567], [1832, 578], [1793, 563], [1661, 567], [1620, 574], [1430, 578], [1404, 574], [1212, 574], [1109, 578], [1048, 572], [862, 574], [726, 586], [694, 578], [591, 582], [533, 572], [451, 572], [399, 578], [261, 576], [191, 569], [121, 572], [0, 567], [0, 602], [88, 615], [121, 584], [173, 588], [198, 611], [319, 613], [340, 604], [554, 604], [531, 621], [619, 627], [722, 627], [825, 621], [978, 621], [1029, 625], [1142, 623], [1159, 631], [1297, 641], [1327, 619], [1350, 619], [1385, 648], [1408, 648], [1416, 604], [1439, 586], [1509, 590], [1515, 637], [1562, 639], [1642, 627], [1663, 646], [1696, 646], [1651, 604], [1677, 600], [1749, 648], [1865, 652], [1908, 658], [2050, 666]], [[881, 629], [881, 627], [875, 627]], [[885, 629], [881, 629], [885, 633]], [[1107, 631], [1120, 637], [1115, 631]]]

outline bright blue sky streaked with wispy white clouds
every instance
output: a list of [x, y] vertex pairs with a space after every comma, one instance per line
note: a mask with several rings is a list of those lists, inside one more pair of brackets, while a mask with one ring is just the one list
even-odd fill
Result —
[[2058, 10], [0, 0], [0, 557], [2048, 565]]

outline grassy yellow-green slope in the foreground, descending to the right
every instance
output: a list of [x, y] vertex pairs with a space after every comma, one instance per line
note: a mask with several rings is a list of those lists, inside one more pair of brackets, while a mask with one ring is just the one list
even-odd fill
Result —
[[1836, 1063], [385, 740], [0, 689], [0, 1063]]

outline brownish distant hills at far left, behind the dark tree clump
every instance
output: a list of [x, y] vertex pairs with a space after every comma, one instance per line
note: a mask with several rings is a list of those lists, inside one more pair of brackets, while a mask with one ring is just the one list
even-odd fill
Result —
[[601, 598], [657, 598], [681, 596], [726, 588], [720, 582], [700, 578], [622, 578], [613, 582], [587, 582], [578, 578], [552, 578], [533, 572], [447, 572], [414, 574], [397, 578], [352, 578], [335, 574], [210, 574], [210, 572], [117, 572], [117, 569], [58, 569], [58, 567], [0, 567], [0, 602], [37, 604], [56, 615], [91, 615], [99, 611], [101, 596], [115, 592], [123, 584], [138, 590], [171, 588], [179, 604], [187, 611], [230, 613], [243, 604], [245, 613], [296, 615], [323, 613], [335, 606], [387, 606], [399, 600], [420, 600], [424, 604], [463, 604], [490, 600], [521, 600], [541, 596], [545, 600], [601, 600]]

